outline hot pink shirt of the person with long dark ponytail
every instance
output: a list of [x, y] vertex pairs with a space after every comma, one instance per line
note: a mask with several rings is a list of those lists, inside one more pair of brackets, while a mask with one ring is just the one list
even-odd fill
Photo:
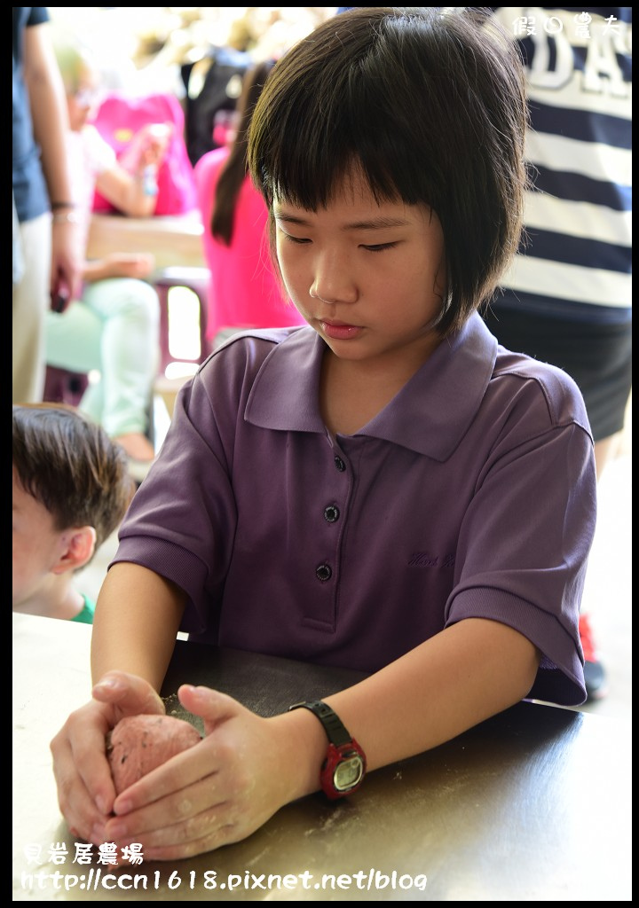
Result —
[[275, 274], [268, 248], [268, 212], [250, 179], [240, 190], [231, 246], [214, 240], [210, 224], [215, 186], [228, 157], [215, 148], [195, 163], [197, 200], [205, 225], [205, 262], [211, 271], [206, 336], [214, 340], [225, 328], [283, 328], [305, 324]]

